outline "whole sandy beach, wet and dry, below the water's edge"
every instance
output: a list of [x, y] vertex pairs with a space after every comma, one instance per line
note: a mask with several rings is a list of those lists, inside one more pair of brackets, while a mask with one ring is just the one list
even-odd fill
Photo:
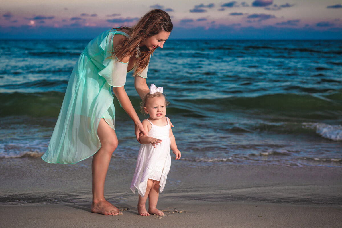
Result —
[[[134, 159], [114, 159], [105, 196], [121, 216], [90, 212], [91, 159], [1, 159], [1, 227], [341, 227], [342, 169], [172, 161], [158, 207], [137, 215]], [[177, 213], [182, 211], [182, 213]], [[173, 213], [174, 212], [174, 213]]]

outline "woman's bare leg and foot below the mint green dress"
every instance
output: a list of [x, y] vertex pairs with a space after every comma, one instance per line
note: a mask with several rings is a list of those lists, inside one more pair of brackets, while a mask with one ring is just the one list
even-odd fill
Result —
[[93, 202], [91, 212], [104, 215], [118, 215], [119, 210], [109, 203], [104, 197], [104, 185], [111, 155], [118, 146], [118, 138], [115, 131], [104, 119], [100, 120], [97, 129], [101, 148], [93, 156]]

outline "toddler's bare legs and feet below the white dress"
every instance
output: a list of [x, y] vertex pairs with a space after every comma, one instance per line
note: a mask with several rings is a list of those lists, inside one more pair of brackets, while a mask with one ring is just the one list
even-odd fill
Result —
[[[148, 197], [148, 211], [146, 210], [146, 200]], [[164, 215], [164, 213], [157, 209], [159, 197], [159, 181], [148, 179], [145, 196], [139, 195], [138, 214], [149, 216], [150, 214]]]

